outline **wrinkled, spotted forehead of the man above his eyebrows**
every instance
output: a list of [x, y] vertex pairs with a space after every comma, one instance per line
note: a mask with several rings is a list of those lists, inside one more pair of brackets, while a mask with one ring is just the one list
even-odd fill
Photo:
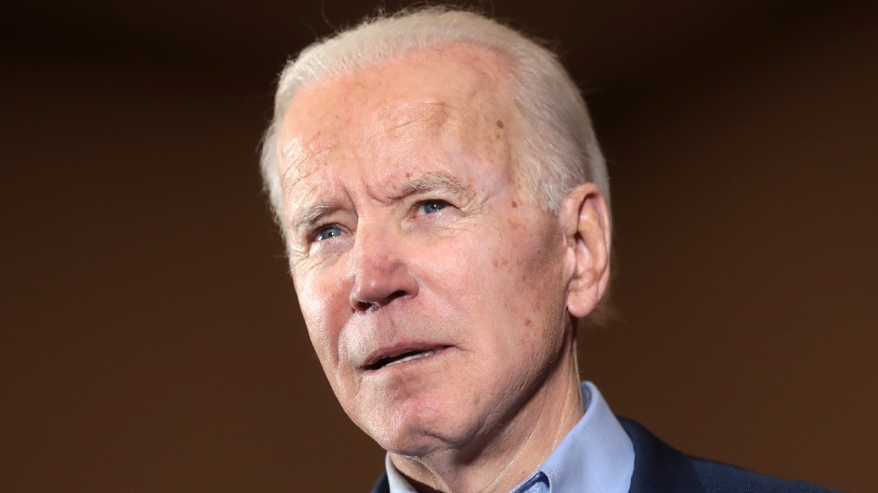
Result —
[[284, 182], [299, 182], [325, 164], [327, 154], [363, 153], [362, 143], [376, 139], [497, 146], [517, 115], [508, 74], [500, 55], [457, 44], [310, 82], [293, 98], [278, 132], [279, 172]]

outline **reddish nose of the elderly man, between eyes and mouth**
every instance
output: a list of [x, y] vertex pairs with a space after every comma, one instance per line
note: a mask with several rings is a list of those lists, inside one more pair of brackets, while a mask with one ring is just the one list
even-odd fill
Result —
[[357, 226], [349, 258], [353, 276], [350, 305], [355, 311], [375, 310], [418, 294], [418, 282], [408, 268], [401, 232], [374, 225]]

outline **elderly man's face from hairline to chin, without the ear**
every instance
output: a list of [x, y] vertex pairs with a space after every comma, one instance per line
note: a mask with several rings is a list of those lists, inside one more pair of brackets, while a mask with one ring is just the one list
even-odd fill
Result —
[[516, 181], [503, 63], [457, 46], [313, 83], [278, 139], [299, 304], [335, 395], [400, 454], [496, 435], [556, 373], [572, 270]]

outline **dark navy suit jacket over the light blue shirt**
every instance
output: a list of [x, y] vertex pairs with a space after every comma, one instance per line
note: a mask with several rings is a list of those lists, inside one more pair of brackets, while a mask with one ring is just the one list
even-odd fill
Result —
[[[760, 475], [720, 462], [689, 457], [667, 446], [641, 425], [619, 418], [634, 444], [630, 493], [831, 493], [810, 482]], [[382, 475], [372, 493], [389, 493]], [[577, 492], [563, 492], [577, 493]]]

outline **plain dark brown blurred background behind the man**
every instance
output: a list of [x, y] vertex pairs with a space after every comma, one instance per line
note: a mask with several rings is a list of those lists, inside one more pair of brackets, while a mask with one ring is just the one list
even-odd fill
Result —
[[[369, 488], [255, 149], [285, 56], [372, 6], [0, 8], [0, 490]], [[583, 376], [690, 454], [874, 489], [875, 4], [493, 11], [558, 41], [608, 154], [621, 318]]]

